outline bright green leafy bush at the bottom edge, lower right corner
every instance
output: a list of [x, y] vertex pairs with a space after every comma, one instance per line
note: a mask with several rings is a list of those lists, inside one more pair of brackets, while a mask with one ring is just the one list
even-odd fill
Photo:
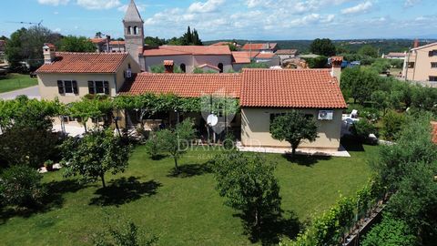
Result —
[[415, 236], [408, 224], [402, 220], [384, 217], [380, 224], [369, 231], [361, 242], [362, 246], [410, 246], [415, 243]]

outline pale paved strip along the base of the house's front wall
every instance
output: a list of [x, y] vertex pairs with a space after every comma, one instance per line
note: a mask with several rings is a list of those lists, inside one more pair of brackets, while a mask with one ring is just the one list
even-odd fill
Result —
[[[241, 143], [237, 143], [237, 148], [240, 151], [247, 152], [259, 152], [259, 153], [276, 153], [285, 154], [290, 153], [290, 148], [269, 148], [269, 147], [246, 147]], [[296, 149], [297, 155], [310, 155], [310, 156], [326, 156], [326, 157], [351, 157], [349, 152], [340, 146], [340, 150], [327, 150], [327, 149]]]

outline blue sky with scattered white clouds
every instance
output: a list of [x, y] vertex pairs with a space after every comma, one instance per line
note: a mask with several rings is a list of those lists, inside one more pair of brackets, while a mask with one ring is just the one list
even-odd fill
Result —
[[[146, 36], [202, 40], [437, 38], [437, 0], [136, 0]], [[130, 0], [2, 0], [0, 36], [39, 23], [62, 35], [123, 36]]]

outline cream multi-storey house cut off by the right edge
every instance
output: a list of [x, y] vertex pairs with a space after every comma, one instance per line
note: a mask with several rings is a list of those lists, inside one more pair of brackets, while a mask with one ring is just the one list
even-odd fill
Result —
[[417, 46], [405, 55], [402, 77], [412, 81], [424, 81], [437, 85], [437, 43]]

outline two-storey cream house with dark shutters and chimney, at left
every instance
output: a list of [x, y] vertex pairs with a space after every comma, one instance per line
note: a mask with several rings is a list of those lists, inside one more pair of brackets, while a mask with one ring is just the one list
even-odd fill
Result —
[[[45, 64], [36, 70], [41, 98], [70, 103], [86, 94], [116, 97], [125, 77], [140, 72], [127, 53], [56, 52], [44, 47]], [[130, 72], [128, 72], [130, 71]]]

